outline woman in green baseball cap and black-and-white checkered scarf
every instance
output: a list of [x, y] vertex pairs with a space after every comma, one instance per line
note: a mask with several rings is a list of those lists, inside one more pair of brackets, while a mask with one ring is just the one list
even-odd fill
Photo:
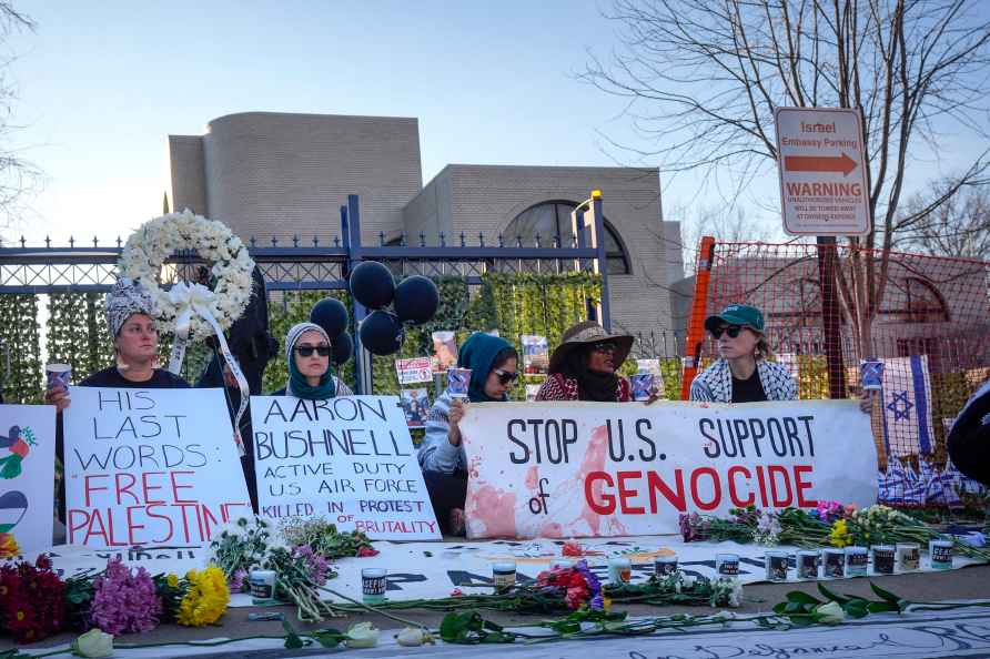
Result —
[[705, 320], [718, 361], [691, 383], [690, 399], [711, 403], [796, 401], [798, 385], [782, 365], [768, 362], [764, 314], [755, 306], [730, 304]]

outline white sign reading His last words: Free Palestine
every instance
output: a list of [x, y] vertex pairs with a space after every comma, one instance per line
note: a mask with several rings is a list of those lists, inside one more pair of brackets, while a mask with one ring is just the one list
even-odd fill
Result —
[[67, 541], [202, 546], [251, 515], [221, 389], [72, 387]]

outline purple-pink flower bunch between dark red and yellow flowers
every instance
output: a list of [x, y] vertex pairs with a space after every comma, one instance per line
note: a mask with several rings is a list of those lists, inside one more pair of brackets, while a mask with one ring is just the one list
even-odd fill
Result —
[[144, 568], [132, 572], [118, 556], [108, 560], [107, 570], [93, 579], [90, 620], [107, 633], [151, 631], [161, 615], [162, 600]]

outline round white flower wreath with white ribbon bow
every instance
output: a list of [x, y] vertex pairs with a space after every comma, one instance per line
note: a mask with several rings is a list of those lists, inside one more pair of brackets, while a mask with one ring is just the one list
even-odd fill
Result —
[[[210, 311], [222, 328], [229, 328], [251, 300], [254, 261], [241, 239], [222, 222], [195, 215], [189, 210], [155, 217], [131, 234], [118, 267], [122, 276], [141, 282], [154, 301], [155, 317], [163, 330], [174, 332], [183, 304], [175, 295], [162, 290], [159, 278], [165, 258], [176, 250], [195, 250], [212, 264], [210, 273], [216, 278], [216, 285], [212, 294], [204, 291], [196, 302]], [[192, 341], [214, 334], [199, 314], [192, 314], [189, 323]]]

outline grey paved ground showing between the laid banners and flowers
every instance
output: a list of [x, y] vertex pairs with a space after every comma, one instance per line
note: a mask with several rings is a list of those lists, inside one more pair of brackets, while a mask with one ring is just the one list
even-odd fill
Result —
[[[873, 578], [876, 582], [903, 597], [910, 601], [938, 601], [949, 599], [990, 599], [990, 566], [974, 566], [960, 570], [948, 572], [925, 572], [916, 575], [895, 575], [891, 577]], [[842, 581], [828, 581], [834, 590], [849, 594], [871, 595], [869, 582], [867, 579], [846, 579]], [[808, 592], [817, 592], [814, 582], [799, 584], [755, 584], [746, 586], [746, 601], [740, 612], [756, 612], [770, 609], [774, 604], [784, 599], [785, 594], [790, 590], [806, 590]], [[658, 615], [670, 612], [703, 612], [705, 608], [699, 607], [649, 607], [649, 606], [632, 606], [627, 607], [632, 615]], [[299, 630], [320, 629], [322, 627], [335, 627], [346, 629], [352, 622], [361, 620], [370, 620], [381, 628], [396, 628], [402, 625], [393, 620], [387, 620], [376, 615], [351, 616], [345, 619], [330, 620], [322, 625], [302, 625], [294, 620], [295, 609], [293, 607], [255, 607], [255, 608], [234, 608], [229, 609], [222, 627], [206, 628], [185, 628], [173, 625], [163, 625], [153, 631], [140, 636], [129, 636], [120, 639], [122, 642], [163, 642], [169, 640], [195, 640], [210, 639], [218, 637], [246, 637], [255, 635], [280, 635], [282, 626], [276, 621], [249, 621], [248, 615], [259, 611], [284, 611], [285, 616], [293, 620], [293, 625]], [[436, 627], [443, 618], [442, 612], [433, 611], [396, 611], [395, 615], [421, 622], [424, 625]], [[525, 625], [533, 621], [533, 618], [526, 616], [517, 616], [509, 614], [497, 614], [488, 611], [485, 616], [495, 621], [505, 625]], [[48, 639], [43, 643], [31, 646], [31, 649], [42, 649], [48, 646], [59, 645], [71, 641], [73, 635], [62, 635], [57, 638]], [[0, 650], [12, 647], [9, 639], [0, 642]], [[241, 657], [251, 659], [262, 659], [263, 657], [282, 657], [290, 656], [285, 651], [271, 652], [240, 652], [236, 655], [223, 655], [230, 657]]]

